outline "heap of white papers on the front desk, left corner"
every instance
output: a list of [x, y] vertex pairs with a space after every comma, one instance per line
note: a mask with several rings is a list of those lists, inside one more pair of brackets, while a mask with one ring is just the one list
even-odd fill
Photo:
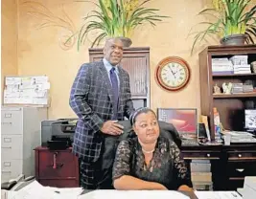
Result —
[[37, 181], [21, 188], [7, 199], [78, 199], [82, 188], [50, 188], [43, 187]]

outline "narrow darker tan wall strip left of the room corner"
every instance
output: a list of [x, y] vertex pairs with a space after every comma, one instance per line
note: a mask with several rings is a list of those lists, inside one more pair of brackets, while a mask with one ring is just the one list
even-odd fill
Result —
[[4, 77], [17, 75], [17, 2], [16, 0], [2, 0], [1, 6], [1, 94], [3, 94]]

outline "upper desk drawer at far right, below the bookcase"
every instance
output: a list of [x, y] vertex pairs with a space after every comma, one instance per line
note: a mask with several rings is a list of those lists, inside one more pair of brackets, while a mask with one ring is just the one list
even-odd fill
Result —
[[227, 153], [228, 161], [255, 161], [256, 151], [230, 151]]

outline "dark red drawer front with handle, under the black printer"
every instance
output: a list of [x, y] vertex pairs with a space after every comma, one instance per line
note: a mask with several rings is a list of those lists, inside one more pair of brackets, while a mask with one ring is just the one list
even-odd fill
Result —
[[38, 177], [43, 179], [76, 177], [77, 158], [69, 151], [39, 151]]

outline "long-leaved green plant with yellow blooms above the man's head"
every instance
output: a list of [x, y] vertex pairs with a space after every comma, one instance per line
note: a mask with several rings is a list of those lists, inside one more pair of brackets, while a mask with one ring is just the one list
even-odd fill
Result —
[[[77, 36], [78, 50], [86, 41], [88, 33], [96, 32], [91, 47], [98, 46], [106, 37], [120, 37], [124, 46], [131, 45], [131, 33], [141, 25], [146, 23], [156, 26], [162, 18], [168, 17], [159, 15], [158, 9], [149, 9], [144, 6], [151, 0], [97, 0], [91, 2], [96, 5], [97, 11], [91, 11], [85, 16], [81, 29], [72, 35]], [[88, 1], [84, 1], [88, 2]]]

